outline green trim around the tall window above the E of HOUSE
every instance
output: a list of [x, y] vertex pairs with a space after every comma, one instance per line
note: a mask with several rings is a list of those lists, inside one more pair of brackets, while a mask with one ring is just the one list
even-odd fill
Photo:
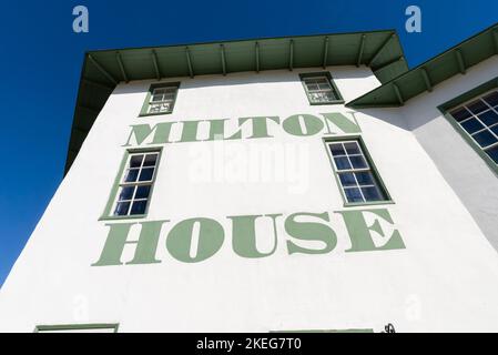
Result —
[[[331, 163], [332, 166], [332, 171], [334, 173], [334, 178], [337, 184], [337, 189], [339, 189], [341, 192], [341, 196], [343, 197], [343, 202], [344, 202], [344, 207], [357, 207], [357, 206], [374, 206], [374, 205], [386, 205], [386, 204], [395, 204], [395, 202], [393, 201], [393, 197], [389, 194], [389, 191], [387, 190], [386, 184], [384, 183], [384, 180], [382, 179], [380, 173], [377, 170], [377, 166], [374, 163], [374, 160], [372, 159], [370, 153], [368, 152], [368, 149], [366, 148], [365, 141], [363, 140], [360, 134], [345, 134], [345, 135], [333, 135], [333, 136], [324, 136], [323, 139], [323, 143], [324, 143], [324, 148], [325, 148], [325, 153], [328, 156], [328, 161]], [[337, 142], [337, 141], [357, 141], [359, 146], [363, 150], [363, 153], [369, 164], [369, 168], [372, 170], [372, 172], [374, 173], [375, 178], [377, 179], [377, 182], [379, 184], [379, 187], [383, 190], [386, 200], [383, 201], [375, 201], [375, 202], [359, 202], [359, 203], [352, 203], [348, 202], [346, 199], [346, 195], [344, 194], [344, 189], [342, 187], [342, 183], [339, 181], [339, 176], [338, 176], [338, 172], [335, 168], [335, 164], [333, 162], [333, 156], [332, 153], [328, 149], [328, 144], [329, 142]]]

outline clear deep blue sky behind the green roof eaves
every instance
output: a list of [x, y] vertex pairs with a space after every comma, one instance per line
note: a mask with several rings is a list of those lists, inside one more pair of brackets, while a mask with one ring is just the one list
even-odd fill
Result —
[[[72, 31], [78, 4], [89, 33]], [[421, 33], [405, 31], [410, 4]], [[1, 285], [62, 180], [85, 50], [397, 29], [411, 68], [498, 22], [498, 2], [17, 1], [0, 17]]]

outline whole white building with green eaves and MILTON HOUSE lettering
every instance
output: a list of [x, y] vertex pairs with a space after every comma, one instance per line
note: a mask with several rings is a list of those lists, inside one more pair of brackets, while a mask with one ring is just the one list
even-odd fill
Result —
[[0, 331], [497, 332], [497, 31], [88, 52]]

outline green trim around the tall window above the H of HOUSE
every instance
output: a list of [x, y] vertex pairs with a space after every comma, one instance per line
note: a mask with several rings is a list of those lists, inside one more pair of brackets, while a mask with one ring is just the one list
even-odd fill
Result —
[[[155, 181], [156, 181], [156, 178], [159, 174], [159, 166], [161, 164], [162, 152], [163, 152], [162, 146], [125, 150], [125, 152], [123, 154], [123, 159], [121, 160], [118, 173], [114, 178], [114, 182], [112, 184], [111, 192], [109, 194], [108, 203], [105, 204], [104, 211], [103, 211], [101, 217], [99, 219], [99, 221], [139, 220], [139, 219], [146, 217], [146, 215], [149, 213], [149, 207], [151, 205], [152, 195], [154, 192]], [[118, 191], [119, 191], [119, 187], [121, 184], [121, 179], [123, 178], [124, 169], [126, 168], [126, 163], [130, 158], [130, 154], [134, 154], [134, 153], [159, 153], [157, 161], [155, 164], [154, 176], [152, 179], [152, 186], [151, 186], [151, 191], [149, 193], [149, 202], [145, 207], [145, 213], [144, 214], [133, 214], [133, 215], [112, 215], [112, 209], [113, 209], [115, 200], [116, 200], [116, 195], [118, 195]]]

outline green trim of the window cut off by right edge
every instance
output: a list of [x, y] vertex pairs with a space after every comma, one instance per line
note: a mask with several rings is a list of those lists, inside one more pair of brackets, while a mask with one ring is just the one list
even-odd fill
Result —
[[489, 169], [498, 176], [498, 164], [495, 163], [488, 154], [470, 138], [470, 135], [457, 123], [457, 121], [449, 114], [449, 111], [458, 108], [459, 105], [471, 101], [472, 99], [480, 97], [488, 91], [498, 88], [498, 77], [489, 80], [479, 87], [469, 90], [457, 98], [447, 101], [438, 106], [438, 110], [443, 113], [445, 119], [451, 124], [451, 126], [459, 133], [459, 135], [470, 145], [470, 148], [486, 162]]

